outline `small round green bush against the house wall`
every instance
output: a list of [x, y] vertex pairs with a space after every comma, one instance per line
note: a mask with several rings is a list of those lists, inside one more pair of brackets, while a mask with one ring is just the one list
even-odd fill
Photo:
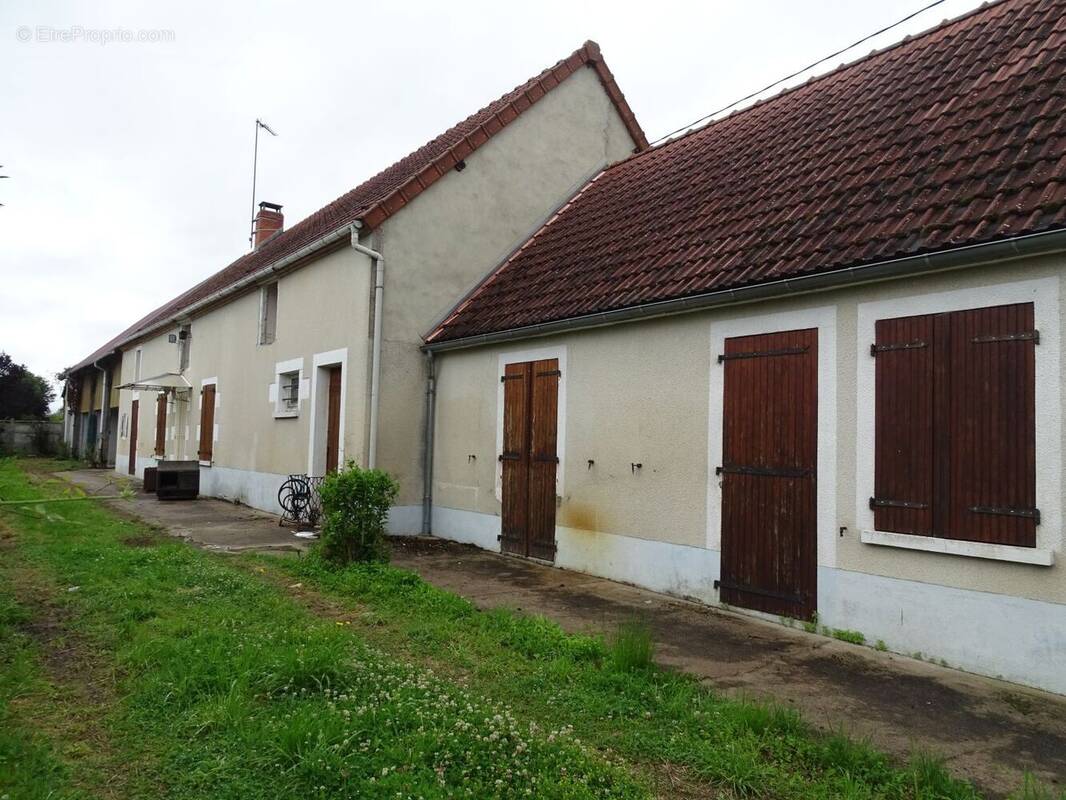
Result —
[[385, 521], [400, 486], [388, 473], [355, 462], [322, 479], [322, 555], [329, 561], [388, 561]]

